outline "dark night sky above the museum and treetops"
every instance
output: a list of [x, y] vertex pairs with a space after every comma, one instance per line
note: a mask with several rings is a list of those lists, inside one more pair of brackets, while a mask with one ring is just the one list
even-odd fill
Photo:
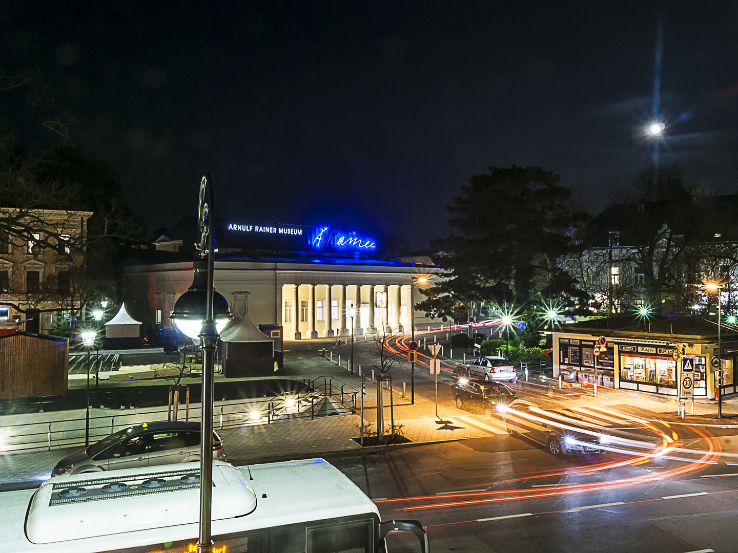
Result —
[[[209, 171], [218, 217], [356, 221], [423, 248], [490, 165], [559, 173], [596, 212], [649, 161], [660, 4], [593, 4], [2, 1], [0, 63], [86, 121], [79, 145], [150, 229], [194, 215]], [[663, 3], [661, 161], [724, 192], [737, 27], [735, 2]]]

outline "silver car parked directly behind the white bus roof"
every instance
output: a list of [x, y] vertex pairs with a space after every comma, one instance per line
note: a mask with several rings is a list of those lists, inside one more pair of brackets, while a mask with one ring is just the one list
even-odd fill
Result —
[[[213, 431], [213, 459], [226, 460]], [[151, 467], [200, 460], [199, 422], [148, 422], [129, 426], [59, 461], [51, 476]]]

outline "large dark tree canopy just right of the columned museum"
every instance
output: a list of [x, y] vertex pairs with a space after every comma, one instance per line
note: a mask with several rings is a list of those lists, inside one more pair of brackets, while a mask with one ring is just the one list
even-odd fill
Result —
[[454, 232], [431, 242], [438, 252], [433, 261], [449, 279], [429, 288], [419, 308], [441, 316], [470, 302], [522, 306], [582, 296], [559, 260], [576, 247], [574, 229], [589, 216], [571, 209], [571, 191], [559, 175], [540, 167], [490, 167], [461, 192], [446, 207]]

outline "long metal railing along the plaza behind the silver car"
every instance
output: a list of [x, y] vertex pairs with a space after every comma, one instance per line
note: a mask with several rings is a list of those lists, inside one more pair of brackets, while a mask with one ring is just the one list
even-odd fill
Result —
[[[285, 392], [275, 397], [215, 402], [213, 425], [216, 429], [235, 428], [245, 425], [272, 424], [283, 420], [314, 419], [334, 414], [355, 414], [356, 394], [353, 386], [334, 376], [323, 376], [314, 380], [303, 380], [310, 392]], [[165, 420], [201, 420], [201, 405], [190, 404], [186, 408], [169, 410], [162, 408], [129, 409], [125, 413], [114, 409], [93, 409], [90, 416], [89, 442], [94, 443], [115, 431], [143, 422]], [[104, 414], [100, 414], [103, 411]], [[55, 411], [46, 414], [75, 413], [75, 417], [23, 422], [3, 425], [0, 428], [0, 452], [38, 451], [52, 448], [68, 448], [85, 443], [85, 410]], [[29, 417], [38, 418], [41, 414]]]

